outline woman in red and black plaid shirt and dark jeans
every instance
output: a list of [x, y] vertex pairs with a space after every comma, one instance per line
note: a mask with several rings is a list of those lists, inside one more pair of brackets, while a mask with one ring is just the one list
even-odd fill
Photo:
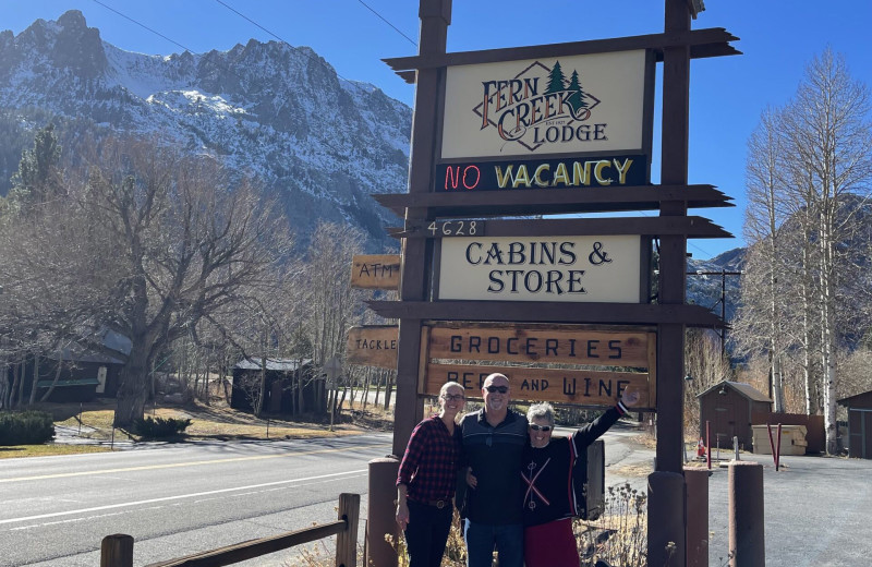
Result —
[[405, 534], [410, 567], [439, 567], [453, 518], [462, 443], [455, 420], [463, 410], [463, 386], [439, 390], [438, 415], [419, 423], [397, 475], [397, 523]]

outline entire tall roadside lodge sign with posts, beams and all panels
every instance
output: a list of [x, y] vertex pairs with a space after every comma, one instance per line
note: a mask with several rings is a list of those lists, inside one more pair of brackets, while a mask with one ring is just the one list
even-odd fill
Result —
[[[663, 34], [446, 53], [451, 2], [421, 0], [419, 56], [386, 60], [416, 83], [409, 193], [376, 195], [404, 219], [400, 301], [370, 302], [400, 322], [395, 455], [449, 379], [475, 397], [500, 371], [518, 399], [593, 407], [635, 388], [657, 413], [652, 566], [685, 565], [685, 328], [723, 325], [685, 303], [687, 239], [731, 237], [687, 215], [731, 206], [687, 184], [690, 60], [739, 53], [723, 28], [690, 29], [697, 5], [665, 0]], [[643, 209], [659, 216], [530, 218]]]

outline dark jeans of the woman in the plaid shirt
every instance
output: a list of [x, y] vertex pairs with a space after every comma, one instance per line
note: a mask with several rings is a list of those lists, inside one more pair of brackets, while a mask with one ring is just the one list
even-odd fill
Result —
[[455, 508], [450, 504], [441, 509], [412, 500], [407, 504], [409, 526], [404, 533], [409, 567], [439, 567]]

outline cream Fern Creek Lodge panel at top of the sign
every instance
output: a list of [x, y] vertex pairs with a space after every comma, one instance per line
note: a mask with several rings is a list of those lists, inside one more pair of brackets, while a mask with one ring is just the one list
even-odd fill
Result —
[[449, 67], [443, 159], [646, 147], [645, 50]]

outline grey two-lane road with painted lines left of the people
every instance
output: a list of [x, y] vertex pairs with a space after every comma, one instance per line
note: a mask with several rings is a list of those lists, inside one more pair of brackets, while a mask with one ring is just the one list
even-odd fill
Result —
[[0, 566], [93, 567], [111, 533], [133, 535], [145, 565], [330, 521], [339, 493], [365, 495], [367, 461], [389, 451], [389, 434], [367, 434], [4, 459]]

